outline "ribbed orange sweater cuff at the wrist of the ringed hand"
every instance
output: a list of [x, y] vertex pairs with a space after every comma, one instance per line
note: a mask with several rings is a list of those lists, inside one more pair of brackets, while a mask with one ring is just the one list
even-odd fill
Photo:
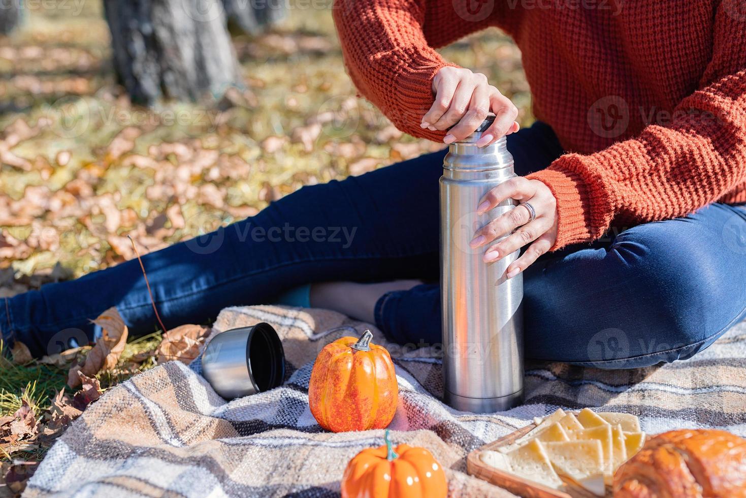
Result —
[[572, 171], [542, 169], [526, 178], [543, 181], [557, 199], [557, 241], [550, 251], [592, 240], [590, 199], [580, 175]]

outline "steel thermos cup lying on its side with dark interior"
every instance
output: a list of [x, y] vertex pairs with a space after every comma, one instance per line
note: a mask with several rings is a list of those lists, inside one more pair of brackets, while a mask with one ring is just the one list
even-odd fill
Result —
[[280, 337], [269, 323], [217, 334], [204, 348], [202, 370], [225, 399], [274, 389], [285, 377]]

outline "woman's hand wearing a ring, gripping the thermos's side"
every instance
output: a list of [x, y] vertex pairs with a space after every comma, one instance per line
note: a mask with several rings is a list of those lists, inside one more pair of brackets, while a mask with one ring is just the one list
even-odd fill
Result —
[[530, 221], [530, 209], [518, 205], [477, 230], [474, 240], [471, 240], [469, 245], [472, 249], [477, 249], [513, 232], [484, 253], [483, 261], [492, 263], [531, 244], [523, 255], [507, 268], [507, 278], [513, 278], [554, 246], [557, 240], [557, 199], [554, 199], [551, 190], [542, 181], [527, 180], [518, 176], [486, 193], [480, 199], [477, 214], [485, 214], [505, 199], [529, 202], [536, 211], [536, 219]]

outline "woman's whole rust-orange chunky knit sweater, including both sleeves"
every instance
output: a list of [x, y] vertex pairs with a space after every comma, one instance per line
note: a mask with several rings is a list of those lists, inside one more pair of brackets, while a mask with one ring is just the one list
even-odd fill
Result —
[[402, 131], [433, 103], [433, 47], [498, 26], [523, 54], [533, 111], [570, 153], [536, 172], [557, 197], [553, 249], [620, 225], [746, 202], [741, 0], [336, 0], [354, 84]]

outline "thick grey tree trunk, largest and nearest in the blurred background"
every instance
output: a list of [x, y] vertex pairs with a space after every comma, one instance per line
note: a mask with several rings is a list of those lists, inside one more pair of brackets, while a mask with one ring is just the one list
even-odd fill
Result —
[[219, 99], [239, 85], [220, 0], [104, 0], [104, 11], [132, 102]]

